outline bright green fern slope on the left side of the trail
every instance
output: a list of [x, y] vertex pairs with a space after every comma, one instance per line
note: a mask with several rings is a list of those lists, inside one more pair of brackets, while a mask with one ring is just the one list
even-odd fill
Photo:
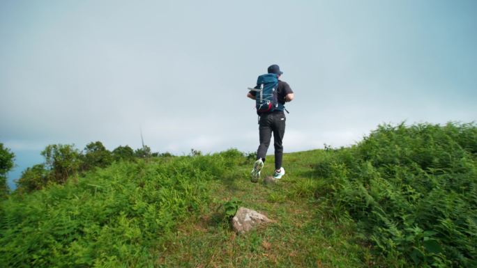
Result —
[[119, 161], [75, 183], [13, 195], [0, 205], [1, 264], [153, 267], [181, 221], [208, 205], [206, 182], [226, 163], [220, 155]]

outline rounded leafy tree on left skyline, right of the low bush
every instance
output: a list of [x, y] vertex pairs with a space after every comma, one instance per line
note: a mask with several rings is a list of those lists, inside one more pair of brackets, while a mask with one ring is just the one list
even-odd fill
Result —
[[51, 171], [49, 180], [54, 182], [66, 182], [68, 176], [77, 173], [82, 164], [80, 153], [74, 145], [47, 145], [41, 155], [45, 157], [47, 170]]

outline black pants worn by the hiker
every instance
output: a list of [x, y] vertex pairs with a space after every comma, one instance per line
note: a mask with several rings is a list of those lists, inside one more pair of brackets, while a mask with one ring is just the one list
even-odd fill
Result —
[[260, 145], [257, 150], [257, 159], [262, 158], [265, 161], [266, 151], [270, 146], [271, 134], [273, 132], [273, 146], [275, 147], [275, 170], [282, 167], [283, 155], [283, 135], [285, 134], [285, 113], [275, 111], [265, 113], [259, 119]]

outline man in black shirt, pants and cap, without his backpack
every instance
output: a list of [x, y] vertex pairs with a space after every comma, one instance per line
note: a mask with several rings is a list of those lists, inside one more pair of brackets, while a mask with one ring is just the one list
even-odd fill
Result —
[[[291, 102], [294, 99], [294, 93], [292, 88], [285, 81], [280, 80], [280, 76], [283, 74], [280, 71], [280, 67], [274, 64], [268, 67], [268, 74], [277, 74], [278, 76], [278, 107], [274, 111], [267, 113], [259, 113], [259, 139], [260, 145], [257, 150], [257, 161], [252, 170], [252, 182], [258, 182], [260, 178], [260, 171], [262, 170], [266, 158], [266, 151], [270, 145], [271, 134], [273, 133], [273, 146], [275, 147], [275, 172], [273, 178], [280, 179], [285, 175], [285, 169], [282, 167], [282, 155], [283, 146], [282, 140], [285, 134], [285, 102]], [[257, 85], [255, 88], [260, 88]], [[250, 90], [247, 93], [247, 97], [255, 100], [257, 91]]]

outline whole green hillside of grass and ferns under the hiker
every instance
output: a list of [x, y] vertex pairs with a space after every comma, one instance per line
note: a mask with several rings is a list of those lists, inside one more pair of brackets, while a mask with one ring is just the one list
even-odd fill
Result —
[[[476, 267], [476, 157], [449, 124], [286, 154], [271, 185], [236, 150], [116, 161], [0, 203], [0, 266]], [[233, 198], [276, 223], [236, 235]]]

